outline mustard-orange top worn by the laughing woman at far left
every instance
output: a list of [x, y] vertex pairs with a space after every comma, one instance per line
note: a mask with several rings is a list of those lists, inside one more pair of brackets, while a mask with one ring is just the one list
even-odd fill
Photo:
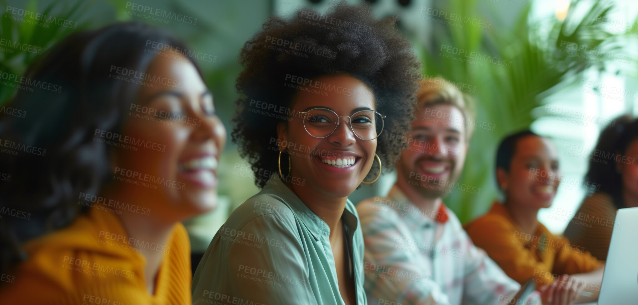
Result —
[[[146, 259], [134, 245], [163, 252], [155, 295], [144, 280]], [[0, 288], [3, 304], [191, 304], [189, 241], [181, 223], [167, 245], [128, 238], [119, 218], [91, 209], [68, 227], [24, 245], [29, 258]]]

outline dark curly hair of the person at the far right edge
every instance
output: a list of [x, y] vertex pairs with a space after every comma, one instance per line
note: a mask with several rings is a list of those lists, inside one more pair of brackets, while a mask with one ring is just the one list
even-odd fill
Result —
[[[623, 199], [623, 178], [616, 170], [616, 161], [613, 159], [600, 162], [600, 154], [625, 155], [627, 147], [638, 137], [638, 120], [630, 115], [621, 115], [611, 121], [598, 136], [595, 150], [590, 155], [590, 169], [585, 174], [585, 179], [591, 183], [600, 185], [599, 192], [604, 192], [612, 197], [616, 208], [625, 208]], [[588, 188], [588, 194], [594, 190]]]

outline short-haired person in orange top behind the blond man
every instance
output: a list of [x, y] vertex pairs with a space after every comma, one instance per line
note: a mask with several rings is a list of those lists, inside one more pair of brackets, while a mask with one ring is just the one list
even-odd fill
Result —
[[604, 262], [537, 220], [539, 209], [551, 207], [561, 182], [551, 140], [531, 131], [507, 136], [496, 152], [496, 180], [503, 203], [494, 202], [465, 226], [475, 245], [510, 278], [535, 281], [543, 304], [596, 301]]

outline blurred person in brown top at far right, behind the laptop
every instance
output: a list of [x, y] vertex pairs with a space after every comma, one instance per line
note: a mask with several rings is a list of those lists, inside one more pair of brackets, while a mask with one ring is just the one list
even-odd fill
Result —
[[[613, 120], [600, 132], [590, 158], [585, 180], [593, 187], [587, 188], [588, 197], [567, 225], [565, 237], [607, 260], [616, 211], [638, 206], [638, 120], [628, 115]], [[572, 215], [563, 211], [556, 213]]]

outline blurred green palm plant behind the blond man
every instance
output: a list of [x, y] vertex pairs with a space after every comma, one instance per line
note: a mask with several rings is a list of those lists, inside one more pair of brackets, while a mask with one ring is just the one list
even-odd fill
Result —
[[[604, 69], [605, 52], [621, 52], [620, 47], [612, 43], [621, 34], [607, 32], [602, 26], [602, 20], [612, 9], [611, 1], [592, 4], [575, 0], [565, 20], [552, 16], [536, 22], [531, 20], [532, 3], [524, 5], [512, 27], [484, 29], [467, 24], [464, 27], [443, 25], [433, 36], [432, 46], [450, 45], [466, 53], [475, 52], [477, 57], [502, 59], [507, 62], [505, 66], [445, 59], [441, 57], [445, 52], [440, 48], [424, 48], [420, 52], [425, 75], [441, 76], [477, 89], [467, 92], [475, 99], [477, 117], [459, 184], [481, 191], [471, 194], [456, 190], [445, 199], [461, 222], [487, 211], [499, 195], [494, 158], [500, 140], [512, 132], [528, 129], [536, 119], [532, 110], [542, 106], [544, 96], [573, 83], [574, 76], [584, 69]], [[477, 15], [476, 0], [450, 0], [443, 9], [486, 20], [485, 16]], [[573, 44], [585, 47], [566, 48]], [[587, 52], [591, 48], [600, 52]]]

